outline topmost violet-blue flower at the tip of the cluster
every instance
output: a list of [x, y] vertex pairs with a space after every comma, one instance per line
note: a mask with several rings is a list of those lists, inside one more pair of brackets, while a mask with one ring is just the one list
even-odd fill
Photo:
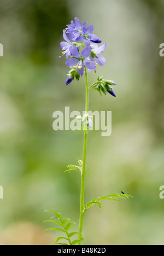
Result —
[[67, 25], [68, 28], [66, 28], [66, 31], [67, 33], [71, 34], [71, 37], [74, 41], [78, 41], [77, 38], [79, 38], [80, 35], [84, 33], [86, 24], [87, 21], [84, 21], [83, 25], [81, 25], [80, 20], [75, 18], [74, 22], [71, 21], [71, 25]]

